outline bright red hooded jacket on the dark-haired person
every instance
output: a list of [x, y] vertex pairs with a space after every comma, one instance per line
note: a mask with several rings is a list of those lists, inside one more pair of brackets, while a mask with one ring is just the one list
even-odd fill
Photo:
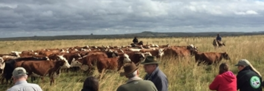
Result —
[[217, 75], [209, 86], [210, 90], [216, 91], [237, 91], [236, 77], [231, 71]]

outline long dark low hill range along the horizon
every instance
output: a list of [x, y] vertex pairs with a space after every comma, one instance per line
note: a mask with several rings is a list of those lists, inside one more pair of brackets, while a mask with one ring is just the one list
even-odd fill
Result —
[[0, 41], [22, 41], [22, 40], [74, 40], [74, 39], [101, 39], [101, 38], [149, 38], [149, 37], [213, 37], [216, 34], [220, 36], [241, 36], [241, 35], [264, 35], [264, 31], [258, 32], [199, 32], [199, 33], [186, 33], [186, 32], [151, 32], [144, 31], [134, 34], [120, 34], [120, 35], [63, 35], [63, 36], [33, 36], [33, 37], [13, 37], [13, 38], [0, 38]]

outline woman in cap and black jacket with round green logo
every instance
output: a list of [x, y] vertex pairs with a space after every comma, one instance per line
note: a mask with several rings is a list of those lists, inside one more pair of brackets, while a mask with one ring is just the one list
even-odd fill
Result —
[[260, 73], [246, 59], [241, 59], [237, 64], [239, 72], [237, 78], [237, 90], [262, 91], [262, 78]]

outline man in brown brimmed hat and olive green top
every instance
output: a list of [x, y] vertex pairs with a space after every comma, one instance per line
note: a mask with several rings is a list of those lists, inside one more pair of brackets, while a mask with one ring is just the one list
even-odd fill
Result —
[[128, 81], [119, 86], [117, 91], [158, 91], [153, 82], [143, 80], [139, 76], [138, 67], [134, 62], [124, 64], [124, 72], [120, 76], [125, 76]]

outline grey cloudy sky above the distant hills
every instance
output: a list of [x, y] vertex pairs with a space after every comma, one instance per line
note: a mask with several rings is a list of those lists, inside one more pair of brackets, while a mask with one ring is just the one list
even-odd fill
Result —
[[264, 31], [264, 0], [0, 0], [0, 38]]

